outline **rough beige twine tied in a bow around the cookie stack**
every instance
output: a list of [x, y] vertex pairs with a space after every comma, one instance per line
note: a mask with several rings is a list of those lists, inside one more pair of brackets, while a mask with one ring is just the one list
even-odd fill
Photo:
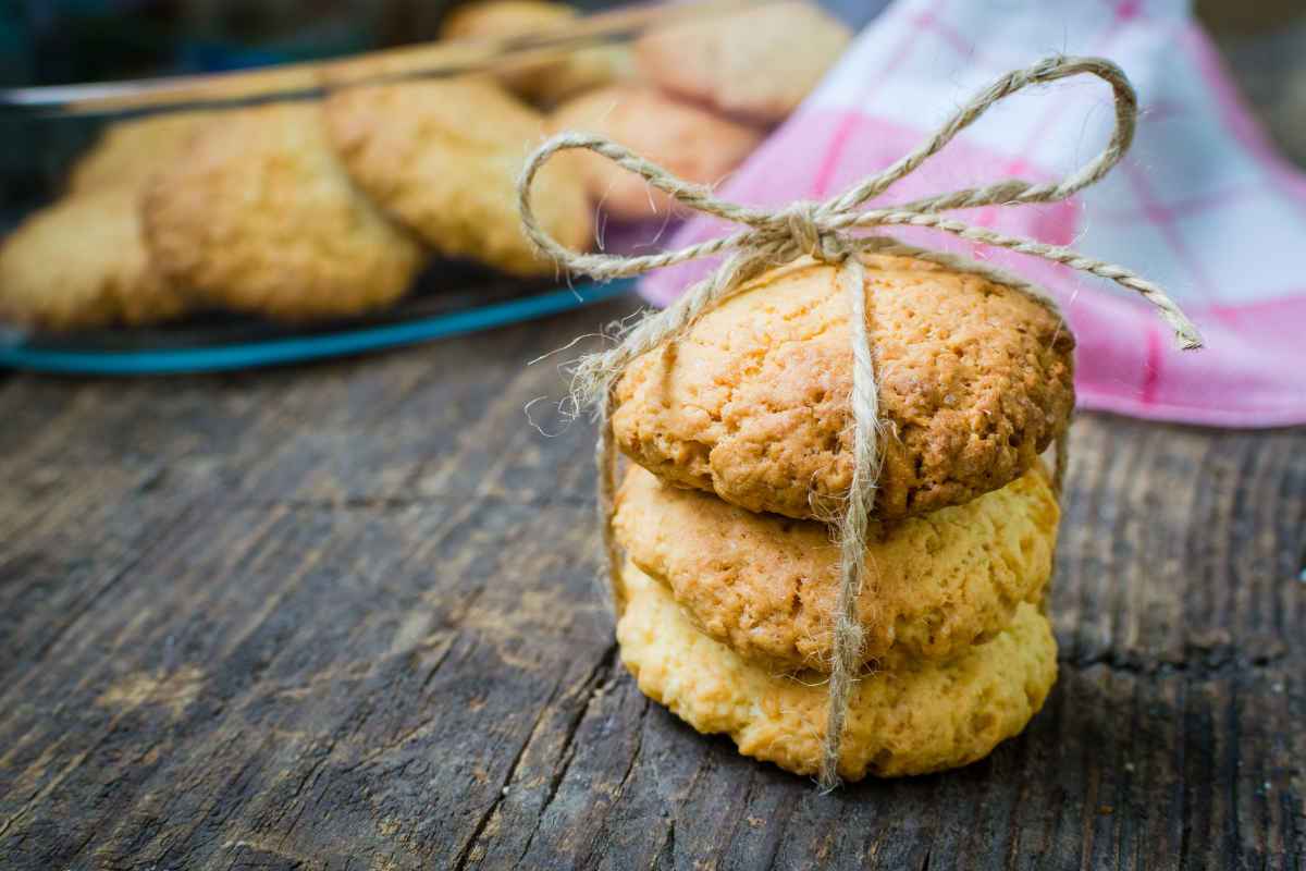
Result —
[[[942, 193], [902, 205], [883, 209], [859, 208], [884, 193], [895, 182], [914, 172], [926, 159], [939, 153], [959, 132], [974, 123], [995, 103], [1030, 85], [1080, 74], [1096, 76], [1111, 86], [1115, 99], [1115, 125], [1106, 148], [1066, 178], [1046, 184], [1034, 184], [1023, 179], [1003, 179], [994, 184]], [[940, 214], [948, 209], [1016, 206], [1066, 200], [1100, 180], [1119, 163], [1134, 140], [1136, 119], [1138, 97], [1119, 67], [1101, 57], [1054, 56], [1041, 60], [1028, 69], [1002, 76], [972, 98], [914, 151], [825, 202], [799, 201], [780, 210], [765, 210], [718, 200], [709, 188], [678, 179], [656, 163], [645, 161], [607, 138], [585, 133], [556, 136], [545, 142], [526, 162], [517, 183], [517, 205], [526, 235], [543, 253], [554, 257], [569, 272], [586, 273], [596, 279], [611, 279], [639, 276], [700, 257], [725, 255], [721, 265], [710, 276], [691, 286], [666, 309], [650, 312], [643, 317], [622, 336], [619, 345], [606, 351], [589, 354], [576, 362], [572, 398], [577, 409], [593, 406], [599, 423], [597, 445], [598, 511], [603, 530], [603, 562], [611, 578], [618, 612], [623, 607], [623, 593], [618, 577], [619, 552], [611, 528], [616, 462], [613, 449], [611, 413], [616, 379], [636, 356], [678, 338], [705, 312], [718, 306], [737, 293], [741, 285], [764, 270], [791, 262], [804, 255], [838, 268], [840, 289], [848, 296], [853, 347], [850, 406], [853, 411], [854, 462], [848, 508], [836, 524], [840, 545], [840, 581], [835, 610], [829, 701], [820, 765], [820, 784], [827, 790], [838, 784], [837, 769], [844, 721], [854, 682], [862, 670], [862, 626], [857, 618], [857, 601], [865, 576], [866, 530], [875, 503], [880, 464], [879, 404], [875, 364], [866, 325], [866, 264], [862, 255], [912, 256], [953, 270], [980, 274], [1013, 287], [1060, 317], [1055, 302], [1042, 290], [1016, 276], [956, 255], [909, 245], [891, 236], [854, 235], [852, 231], [893, 226], [929, 227], [970, 242], [1007, 248], [1107, 278], [1134, 290], [1149, 302], [1156, 308], [1157, 315], [1173, 328], [1179, 347], [1198, 349], [1202, 346], [1202, 338], [1179, 307], [1160, 286], [1128, 269], [1084, 256], [1071, 248], [1010, 236]], [[535, 174], [554, 154], [571, 149], [602, 154], [643, 176], [649, 184], [671, 195], [686, 206], [743, 225], [744, 229], [677, 251], [639, 257], [582, 253], [565, 248], [550, 236], [535, 219], [530, 206], [530, 185]], [[1066, 445], [1059, 439], [1054, 474], [1058, 490], [1064, 475], [1064, 461]]]

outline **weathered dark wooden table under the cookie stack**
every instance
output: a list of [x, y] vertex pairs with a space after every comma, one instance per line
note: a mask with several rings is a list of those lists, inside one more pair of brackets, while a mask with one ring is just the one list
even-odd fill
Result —
[[522, 362], [628, 309], [0, 383], [0, 867], [1302, 867], [1306, 431], [1083, 415], [1043, 712], [823, 797], [616, 657]]

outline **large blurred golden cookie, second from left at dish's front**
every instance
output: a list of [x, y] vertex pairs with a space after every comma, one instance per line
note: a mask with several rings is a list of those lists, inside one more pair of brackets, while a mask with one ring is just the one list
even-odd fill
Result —
[[223, 112], [146, 185], [145, 239], [205, 302], [302, 321], [398, 299], [421, 245], [345, 174], [316, 103]]

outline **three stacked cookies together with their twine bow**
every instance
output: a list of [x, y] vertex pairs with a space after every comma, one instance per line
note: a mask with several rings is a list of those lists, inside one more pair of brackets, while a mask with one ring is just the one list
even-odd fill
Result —
[[[994, 103], [1079, 74], [1111, 86], [1115, 128], [1067, 178], [862, 208]], [[562, 135], [532, 155], [522, 223], [568, 270], [618, 278], [724, 255], [677, 303], [575, 364], [572, 401], [599, 423], [618, 639], [645, 693], [825, 789], [966, 764], [1033, 717], [1057, 670], [1042, 602], [1074, 341], [1028, 282], [855, 231], [929, 227], [1109, 278], [1147, 299], [1181, 347], [1200, 347], [1174, 302], [1123, 266], [943, 214], [1075, 195], [1121, 161], [1136, 114], [1110, 61], [1050, 57], [1003, 76], [846, 193], [778, 212], [718, 200], [597, 136]], [[571, 251], [530, 206], [535, 172], [569, 149], [746, 229], [641, 257]], [[618, 447], [637, 464], [620, 491]]]

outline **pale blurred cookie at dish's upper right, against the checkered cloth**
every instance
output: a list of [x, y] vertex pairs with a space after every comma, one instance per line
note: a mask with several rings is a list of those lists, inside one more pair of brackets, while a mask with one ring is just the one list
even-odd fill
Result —
[[852, 42], [810, 3], [776, 3], [654, 30], [636, 65], [658, 86], [759, 121], [786, 118]]

